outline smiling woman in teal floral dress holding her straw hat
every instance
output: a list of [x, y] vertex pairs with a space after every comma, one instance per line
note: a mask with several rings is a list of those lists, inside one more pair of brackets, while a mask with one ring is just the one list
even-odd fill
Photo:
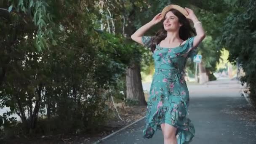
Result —
[[[155, 36], [143, 36], [162, 19], [163, 28]], [[195, 30], [189, 19], [193, 21]], [[183, 70], [187, 59], [196, 55], [197, 45], [205, 38], [202, 23], [191, 9], [168, 5], [131, 38], [151, 48], [155, 61], [144, 138], [152, 138], [160, 129], [164, 144], [188, 144], [195, 136], [195, 128], [187, 118], [189, 91]]]

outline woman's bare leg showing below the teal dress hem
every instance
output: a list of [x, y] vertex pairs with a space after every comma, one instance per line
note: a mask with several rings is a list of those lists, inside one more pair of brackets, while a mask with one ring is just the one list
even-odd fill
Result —
[[176, 130], [177, 128], [172, 125], [164, 125], [164, 144], [177, 144]]

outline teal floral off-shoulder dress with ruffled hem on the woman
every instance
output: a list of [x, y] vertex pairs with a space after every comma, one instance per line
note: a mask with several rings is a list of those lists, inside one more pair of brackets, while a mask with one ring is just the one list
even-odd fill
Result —
[[[152, 37], [143, 36], [142, 43], [148, 43]], [[147, 101], [146, 127], [144, 138], [152, 138], [160, 124], [168, 123], [177, 128], [178, 144], [188, 144], [195, 136], [195, 128], [187, 118], [189, 91], [184, 80], [184, 67], [188, 58], [196, 55], [192, 48], [194, 37], [175, 48], [163, 48], [156, 45], [153, 53], [155, 73]]]

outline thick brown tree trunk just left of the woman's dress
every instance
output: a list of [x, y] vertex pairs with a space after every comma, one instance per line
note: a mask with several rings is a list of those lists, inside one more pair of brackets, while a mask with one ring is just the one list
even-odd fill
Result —
[[145, 100], [139, 64], [131, 64], [126, 70], [127, 99], [139, 101], [139, 105], [147, 105]]

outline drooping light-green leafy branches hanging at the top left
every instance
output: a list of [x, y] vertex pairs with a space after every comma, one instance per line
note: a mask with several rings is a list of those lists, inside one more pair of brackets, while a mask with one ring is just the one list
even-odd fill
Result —
[[[4, 0], [6, 3], [7, 0]], [[53, 16], [48, 12], [49, 3], [45, 0], [8, 0], [8, 11], [15, 20], [22, 20], [28, 24], [29, 30], [35, 29], [36, 37], [32, 43], [37, 49], [48, 48], [48, 43], [56, 44], [51, 29]]]

